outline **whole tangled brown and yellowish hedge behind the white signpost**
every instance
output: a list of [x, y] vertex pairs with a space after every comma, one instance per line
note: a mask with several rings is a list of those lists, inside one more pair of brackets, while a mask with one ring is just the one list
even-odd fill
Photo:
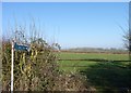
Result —
[[[14, 51], [14, 91], [87, 91], [83, 76], [59, 70], [58, 43], [49, 45], [41, 38], [32, 38], [28, 42], [22, 34], [15, 32], [16, 42], [29, 44], [28, 51]], [[2, 91], [11, 89], [11, 40], [2, 41]]]

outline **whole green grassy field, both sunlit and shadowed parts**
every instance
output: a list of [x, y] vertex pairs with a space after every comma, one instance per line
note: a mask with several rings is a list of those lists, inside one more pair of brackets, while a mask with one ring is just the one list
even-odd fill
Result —
[[86, 76], [87, 83], [98, 92], [118, 93], [117, 91], [131, 89], [130, 62], [126, 61], [128, 54], [66, 52], [60, 53], [58, 64], [64, 72], [79, 72]]

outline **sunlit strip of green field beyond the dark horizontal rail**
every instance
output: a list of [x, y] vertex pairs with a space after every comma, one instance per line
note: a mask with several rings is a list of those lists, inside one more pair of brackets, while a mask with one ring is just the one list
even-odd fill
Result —
[[79, 59], [79, 58], [105, 58], [105, 59], [128, 59], [128, 54], [106, 54], [106, 53], [60, 53], [62, 59]]

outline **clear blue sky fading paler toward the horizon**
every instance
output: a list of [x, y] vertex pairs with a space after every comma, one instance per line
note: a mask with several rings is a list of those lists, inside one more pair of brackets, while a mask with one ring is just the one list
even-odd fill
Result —
[[[49, 43], [61, 48], [123, 48], [122, 35], [128, 29], [128, 2], [3, 2], [2, 32], [10, 27], [29, 26], [39, 29]], [[28, 35], [29, 31], [26, 30]]]

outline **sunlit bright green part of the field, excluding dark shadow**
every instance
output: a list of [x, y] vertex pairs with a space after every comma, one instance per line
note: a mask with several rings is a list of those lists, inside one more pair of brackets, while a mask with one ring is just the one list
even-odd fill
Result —
[[[95, 65], [97, 62], [94, 61], [66, 61], [66, 59], [107, 59], [107, 61], [128, 61], [128, 54], [105, 54], [105, 53], [60, 53], [60, 59], [58, 64], [60, 69], [66, 72], [74, 71], [87, 68]], [[63, 59], [63, 61], [62, 61]], [[122, 66], [127, 65], [128, 62], [120, 62]], [[115, 65], [115, 64], [114, 64]]]

